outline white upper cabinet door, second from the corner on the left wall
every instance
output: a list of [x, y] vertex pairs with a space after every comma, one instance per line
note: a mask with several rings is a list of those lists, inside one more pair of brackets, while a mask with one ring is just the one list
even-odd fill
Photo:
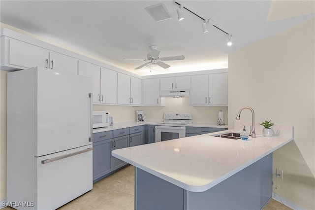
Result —
[[130, 76], [124, 73], [117, 73], [117, 104], [131, 104], [130, 97]]

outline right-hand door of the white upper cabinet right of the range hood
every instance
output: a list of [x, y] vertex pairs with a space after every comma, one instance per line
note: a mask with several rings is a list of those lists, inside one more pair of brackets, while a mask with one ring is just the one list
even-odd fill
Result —
[[227, 105], [227, 73], [209, 74], [209, 105]]

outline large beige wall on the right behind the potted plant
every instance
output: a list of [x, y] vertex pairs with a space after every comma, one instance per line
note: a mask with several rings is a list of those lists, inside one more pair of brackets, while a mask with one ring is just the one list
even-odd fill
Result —
[[[315, 210], [314, 19], [230, 53], [228, 63], [229, 127], [247, 105], [254, 109], [256, 122], [294, 126], [294, 141], [274, 152], [273, 168], [283, 169], [284, 175], [273, 189]], [[241, 118], [249, 117], [249, 111], [242, 113]]]

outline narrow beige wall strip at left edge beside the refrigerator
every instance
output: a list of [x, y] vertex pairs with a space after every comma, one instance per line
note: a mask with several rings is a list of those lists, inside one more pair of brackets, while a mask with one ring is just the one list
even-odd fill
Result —
[[6, 73], [0, 70], [0, 201], [6, 198]]

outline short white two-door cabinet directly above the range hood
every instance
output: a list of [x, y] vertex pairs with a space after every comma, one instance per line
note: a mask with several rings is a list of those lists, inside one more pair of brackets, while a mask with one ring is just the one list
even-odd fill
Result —
[[190, 89], [190, 76], [160, 78], [160, 90]]

